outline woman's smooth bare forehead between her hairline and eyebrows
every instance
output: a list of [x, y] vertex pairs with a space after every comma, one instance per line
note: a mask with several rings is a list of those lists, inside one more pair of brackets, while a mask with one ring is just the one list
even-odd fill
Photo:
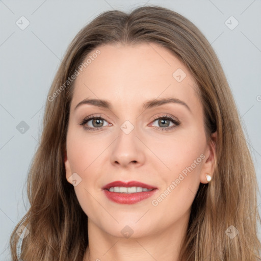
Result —
[[[99, 55], [92, 56], [97, 53]], [[155, 43], [98, 46], [76, 77], [72, 107], [85, 98], [137, 107], [145, 100], [174, 97], [198, 108], [198, 88], [187, 67]]]

